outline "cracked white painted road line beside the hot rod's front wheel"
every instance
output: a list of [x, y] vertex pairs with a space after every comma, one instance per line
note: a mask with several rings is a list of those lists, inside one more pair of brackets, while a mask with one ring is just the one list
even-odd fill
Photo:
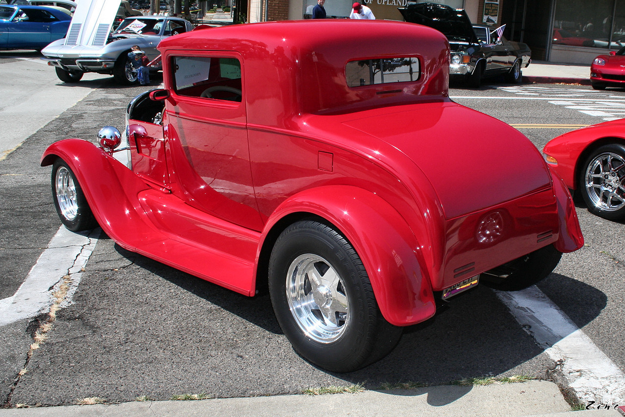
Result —
[[72, 282], [61, 307], [69, 305], [100, 232], [98, 228], [90, 235], [79, 234], [61, 226], [17, 292], [0, 300], [0, 326], [48, 312], [53, 303], [51, 289], [65, 275], [71, 275]]

